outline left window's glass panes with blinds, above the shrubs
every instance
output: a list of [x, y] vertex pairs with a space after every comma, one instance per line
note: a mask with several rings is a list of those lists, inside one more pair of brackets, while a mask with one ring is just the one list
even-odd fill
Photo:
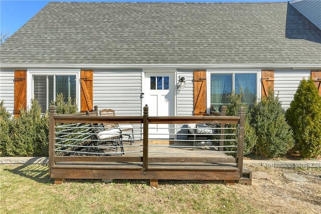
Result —
[[57, 94], [63, 94], [64, 101], [70, 97], [77, 97], [77, 81], [75, 75], [33, 75], [34, 99], [38, 100], [41, 112], [49, 109], [50, 102], [55, 100]]

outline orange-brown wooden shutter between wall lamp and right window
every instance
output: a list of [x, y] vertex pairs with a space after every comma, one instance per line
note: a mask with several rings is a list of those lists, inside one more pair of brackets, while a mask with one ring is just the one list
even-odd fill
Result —
[[206, 115], [206, 71], [194, 71], [194, 116]]

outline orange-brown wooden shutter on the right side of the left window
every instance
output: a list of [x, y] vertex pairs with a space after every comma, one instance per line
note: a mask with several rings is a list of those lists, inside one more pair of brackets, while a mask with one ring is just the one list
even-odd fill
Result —
[[80, 111], [93, 110], [93, 71], [80, 71]]

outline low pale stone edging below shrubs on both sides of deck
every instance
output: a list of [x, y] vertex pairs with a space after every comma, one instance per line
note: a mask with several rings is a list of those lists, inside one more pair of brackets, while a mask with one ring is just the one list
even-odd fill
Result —
[[[321, 160], [243, 160], [243, 163], [269, 168], [321, 168]], [[48, 157], [0, 157], [0, 164], [48, 164]]]

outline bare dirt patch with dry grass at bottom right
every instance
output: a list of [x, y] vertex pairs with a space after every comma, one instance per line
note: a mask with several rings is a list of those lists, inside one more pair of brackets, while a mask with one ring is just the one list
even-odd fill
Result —
[[[253, 207], [267, 213], [321, 213], [321, 169], [288, 169], [250, 167], [252, 172], [267, 172], [268, 179], [252, 178], [252, 186], [237, 185], [233, 188]], [[286, 179], [284, 172], [295, 173], [308, 179], [297, 182]]]

